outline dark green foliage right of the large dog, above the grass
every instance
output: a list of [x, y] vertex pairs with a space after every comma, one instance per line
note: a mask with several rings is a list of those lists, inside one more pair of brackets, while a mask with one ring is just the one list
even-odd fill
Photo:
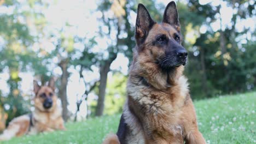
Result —
[[[216, 17], [220, 15], [219, 9], [222, 6], [215, 7], [211, 3], [201, 5], [198, 1], [189, 1], [188, 10], [183, 10], [185, 6], [179, 5], [182, 8], [179, 10], [182, 25], [189, 26], [191, 23], [193, 31], [199, 33], [197, 36], [195, 35], [195, 43], [191, 43], [191, 41], [184, 43], [189, 50], [185, 73], [189, 78], [191, 94], [194, 98], [245, 92], [255, 87], [255, 63], [252, 62], [252, 59], [255, 59], [255, 51], [252, 51], [251, 48], [253, 45], [255, 46], [255, 43], [252, 42], [255, 37], [253, 36], [251, 40], [247, 39], [247, 34], [254, 35], [255, 30], [252, 32], [252, 29], [251, 31], [245, 29], [243, 32], [237, 32], [235, 28], [237, 17], [246, 19], [252, 13], [252, 9], [246, 9], [245, 5], [247, 4], [251, 8], [255, 3], [248, 3], [248, 1], [226, 2], [228, 7], [238, 11], [237, 14], [233, 14], [231, 26], [216, 32], [208, 27], [208, 31], [204, 34], [200, 34], [199, 28], [202, 25], [210, 26], [218, 19], [221, 21]], [[184, 30], [184, 34], [191, 31], [188, 27]], [[221, 33], [224, 33], [223, 38]], [[241, 37], [246, 38], [241, 39]], [[241, 42], [245, 40], [248, 43], [241, 46]]]

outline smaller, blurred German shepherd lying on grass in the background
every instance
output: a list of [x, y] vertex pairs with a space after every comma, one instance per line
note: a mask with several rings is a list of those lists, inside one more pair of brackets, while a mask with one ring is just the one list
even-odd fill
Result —
[[37, 81], [33, 81], [33, 85], [34, 111], [14, 118], [0, 135], [0, 140], [9, 140], [14, 136], [26, 134], [65, 130], [62, 110], [57, 106], [57, 96], [54, 93], [55, 80], [51, 78], [48, 86], [39, 86]]

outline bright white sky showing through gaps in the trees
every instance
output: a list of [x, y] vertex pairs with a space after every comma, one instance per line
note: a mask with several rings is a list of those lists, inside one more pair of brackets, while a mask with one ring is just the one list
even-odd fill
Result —
[[[20, 0], [22, 1], [22, 0]], [[92, 37], [96, 34], [98, 31], [98, 23], [97, 18], [101, 17], [102, 14], [99, 12], [91, 14], [91, 11], [95, 10], [97, 8], [96, 1], [91, 0], [75, 0], [75, 1], [69, 1], [69, 0], [59, 0], [59, 1], [51, 1], [47, 0], [50, 5], [49, 8], [44, 10], [46, 20], [49, 22], [49, 26], [46, 31], [56, 31], [56, 29], [61, 29], [62, 27], [65, 27], [65, 23], [68, 22], [69, 25], [72, 25], [71, 28], [65, 29], [65, 34], [67, 35], [79, 35], [80, 37]], [[251, 0], [253, 1], [253, 0]], [[158, 0], [160, 3], [164, 3], [167, 5], [170, 1], [165, 0]], [[183, 0], [182, 2], [187, 2]], [[211, 3], [212, 5], [216, 6], [221, 4], [222, 8], [220, 9], [221, 18], [222, 18], [222, 26], [223, 27], [230, 27], [230, 21], [232, 14], [237, 13], [235, 9], [228, 8], [226, 5], [226, 2], [223, 1], [213, 1], [213, 0], [200, 0], [200, 4], [207, 4]], [[9, 13], [8, 9], [0, 9], [0, 13]], [[135, 23], [136, 14], [132, 13], [131, 21]], [[247, 23], [245, 26], [243, 23]], [[251, 29], [255, 29], [255, 23], [256, 20], [252, 18], [248, 18], [243, 21], [239, 21], [237, 23], [236, 28], [239, 31], [243, 31], [244, 27], [251, 27]], [[201, 33], [205, 33], [207, 29], [210, 27], [203, 25], [200, 28]], [[217, 31], [220, 29], [220, 19], [217, 17], [216, 22], [213, 22], [211, 25], [211, 28], [213, 31]], [[46, 32], [47, 33], [47, 32]], [[194, 33], [188, 33], [188, 35], [193, 36]], [[106, 39], [97, 39], [98, 46], [95, 47], [94, 52], [102, 51], [106, 49], [107, 47], [107, 40]], [[45, 47], [44, 49], [46, 51], [51, 51], [55, 49], [54, 45], [49, 42], [49, 40], [42, 39], [40, 41], [42, 43], [42, 47]], [[0, 44], [1, 44], [1, 38], [0, 38]], [[37, 50], [39, 46], [39, 43], [34, 44], [34, 50]], [[75, 44], [76, 47], [79, 49], [79, 44]], [[57, 62], [57, 59], [54, 59], [54, 62]], [[118, 54], [117, 59], [112, 63], [111, 69], [117, 69], [121, 70], [122, 73], [127, 74], [128, 70], [128, 59], [123, 54]], [[71, 73], [71, 76], [69, 77], [68, 86], [67, 86], [67, 96], [69, 101], [68, 109], [71, 110], [73, 113], [76, 110], [76, 101], [77, 101], [77, 95], [80, 97], [85, 89], [85, 86], [83, 82], [79, 82], [79, 74], [78, 71], [75, 70], [75, 68], [69, 68], [68, 71]], [[59, 67], [56, 67], [54, 69], [54, 73], [56, 75], [61, 74], [61, 70]], [[88, 81], [91, 81], [93, 79], [98, 79], [98, 69], [94, 68], [94, 73], [88, 73], [86, 74], [88, 76]], [[111, 79], [112, 74], [109, 74], [109, 79]], [[0, 89], [4, 93], [8, 92], [8, 86], [5, 82], [8, 80], [8, 71], [5, 70], [5, 73], [0, 74]], [[26, 73], [20, 73], [20, 77], [22, 77], [21, 82], [21, 89], [24, 93], [30, 93], [32, 94], [32, 81], [33, 81], [33, 74], [26, 72]], [[80, 113], [80, 116], [85, 116], [86, 110], [85, 105], [83, 104], [81, 109], [82, 112]], [[83, 111], [84, 110], [84, 111]]]

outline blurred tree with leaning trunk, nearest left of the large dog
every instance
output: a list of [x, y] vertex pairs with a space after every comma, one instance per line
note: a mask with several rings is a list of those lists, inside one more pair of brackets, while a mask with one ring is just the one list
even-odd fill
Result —
[[[104, 110], [104, 98], [106, 93], [107, 86], [107, 76], [110, 70], [111, 63], [117, 58], [117, 53], [120, 49], [120, 33], [122, 31], [121, 25], [123, 25], [122, 20], [125, 15], [125, 7], [126, 1], [101, 1], [98, 10], [102, 12], [102, 18], [100, 22], [102, 25], [107, 26], [108, 31], [104, 32], [102, 27], [100, 33], [102, 38], [112, 39], [112, 42], [108, 44], [107, 57], [101, 58], [100, 63], [98, 63], [98, 67], [100, 69], [100, 85], [98, 86], [98, 100], [96, 107], [96, 116], [101, 116]], [[112, 15], [108, 15], [108, 13], [112, 13]], [[113, 39], [115, 39], [113, 41]]]

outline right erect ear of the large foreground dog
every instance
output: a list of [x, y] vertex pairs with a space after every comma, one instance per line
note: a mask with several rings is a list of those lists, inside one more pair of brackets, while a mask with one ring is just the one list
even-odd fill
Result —
[[175, 2], [172, 1], [166, 6], [162, 22], [169, 23], [179, 31], [181, 26], [179, 25], [179, 15]]

